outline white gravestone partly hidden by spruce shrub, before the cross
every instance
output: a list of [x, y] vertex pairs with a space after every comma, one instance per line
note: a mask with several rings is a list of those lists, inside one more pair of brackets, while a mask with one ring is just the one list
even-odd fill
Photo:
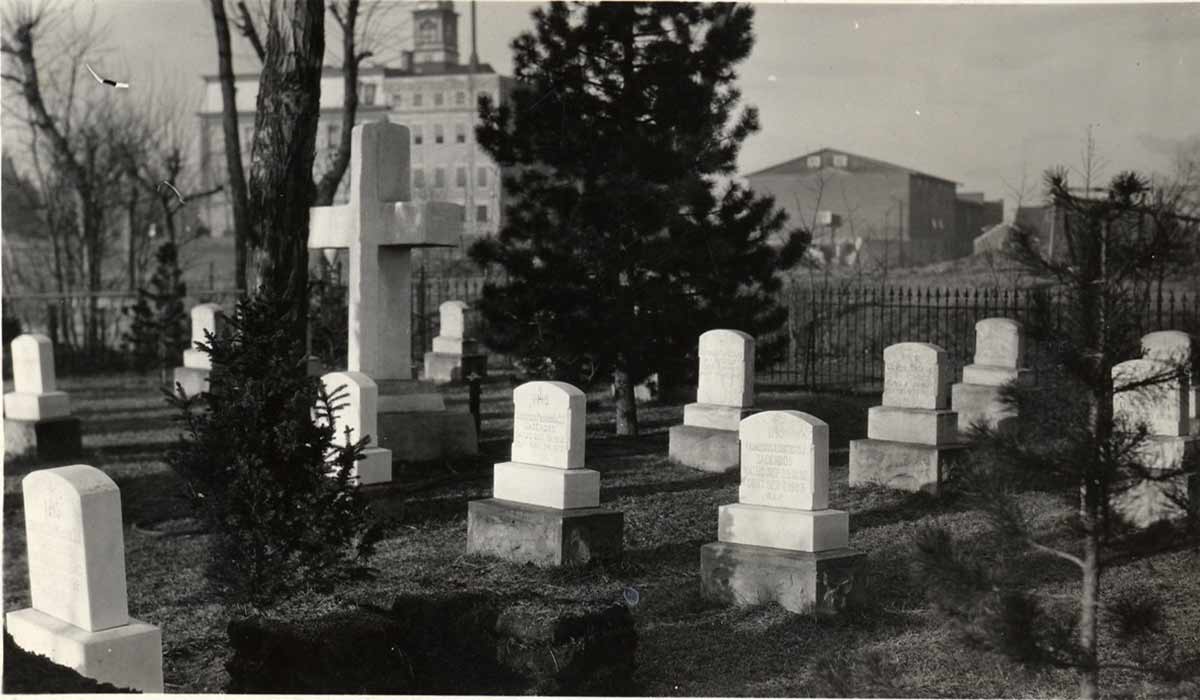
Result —
[[[379, 387], [362, 372], [329, 372], [320, 377], [330, 396], [340, 393], [334, 402], [334, 430], [338, 444], [353, 444], [362, 436], [371, 438], [362, 459], [354, 465], [354, 478], [361, 485], [391, 480], [391, 450], [379, 447]], [[349, 437], [346, 429], [350, 429]]]

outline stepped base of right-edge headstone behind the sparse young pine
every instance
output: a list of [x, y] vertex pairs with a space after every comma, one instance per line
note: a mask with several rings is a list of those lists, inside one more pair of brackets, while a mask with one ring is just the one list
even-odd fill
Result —
[[1200, 503], [1200, 436], [1150, 436], [1139, 450], [1142, 462], [1164, 472], [1187, 469], [1160, 481], [1144, 480], [1114, 497], [1112, 507], [1134, 527], [1187, 515], [1186, 507]]

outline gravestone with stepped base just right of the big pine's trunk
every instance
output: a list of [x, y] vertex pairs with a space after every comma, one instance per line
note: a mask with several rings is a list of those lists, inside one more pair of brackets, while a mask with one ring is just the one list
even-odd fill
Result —
[[670, 430], [673, 461], [706, 472], [738, 467], [738, 425], [754, 413], [754, 337], [715, 329], [700, 336], [696, 402]]

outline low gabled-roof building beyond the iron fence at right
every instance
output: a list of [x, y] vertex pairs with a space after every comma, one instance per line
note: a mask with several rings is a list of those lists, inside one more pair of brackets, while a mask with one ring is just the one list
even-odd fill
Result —
[[826, 259], [917, 265], [971, 255], [1003, 203], [958, 193], [953, 180], [824, 148], [745, 177], [812, 231]]

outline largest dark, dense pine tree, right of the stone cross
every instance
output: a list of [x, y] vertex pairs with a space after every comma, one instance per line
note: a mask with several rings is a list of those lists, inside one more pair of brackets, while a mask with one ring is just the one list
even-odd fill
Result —
[[754, 10], [553, 2], [533, 18], [512, 42], [510, 103], [480, 104], [479, 143], [511, 196], [499, 235], [470, 251], [506, 273], [480, 301], [486, 340], [559, 378], [611, 372], [617, 432], [636, 433], [635, 384], [685, 361], [700, 333], [760, 336], [760, 361], [782, 349], [764, 337], [786, 317], [773, 293], [808, 237], [730, 181], [758, 128], [734, 72]]

